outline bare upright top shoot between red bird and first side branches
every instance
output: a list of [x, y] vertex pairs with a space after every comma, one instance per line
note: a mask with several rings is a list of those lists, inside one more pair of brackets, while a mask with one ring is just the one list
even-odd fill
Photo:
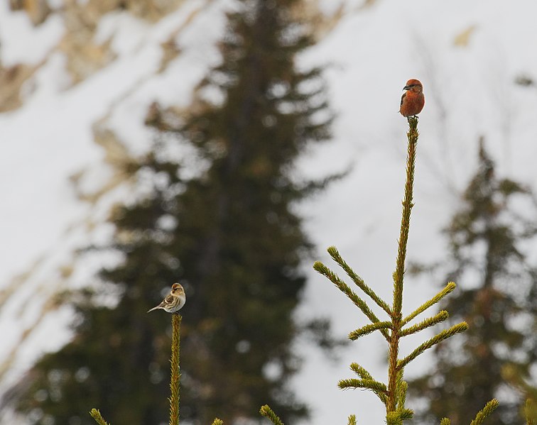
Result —
[[413, 185], [414, 171], [416, 170], [416, 147], [418, 145], [418, 118], [408, 118], [409, 130], [408, 149], [406, 156], [406, 183], [405, 197], [403, 199], [403, 214], [401, 216], [401, 233], [399, 235], [397, 247], [396, 270], [394, 272], [394, 305], [392, 307], [392, 318], [401, 319], [401, 308], [403, 305], [403, 276], [405, 273], [406, 245], [408, 243], [408, 229], [410, 228], [410, 216], [413, 207]]

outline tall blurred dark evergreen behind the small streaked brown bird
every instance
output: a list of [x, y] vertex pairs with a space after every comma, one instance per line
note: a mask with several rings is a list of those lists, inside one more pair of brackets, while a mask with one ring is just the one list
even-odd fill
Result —
[[[92, 424], [92, 407], [112, 424], [167, 421], [170, 316], [146, 311], [176, 280], [187, 293], [183, 419], [260, 421], [265, 403], [285, 421], [307, 414], [288, 389], [298, 368], [291, 343], [305, 284], [300, 262], [312, 248], [293, 205], [330, 179], [297, 180], [293, 163], [308, 143], [329, 137], [331, 117], [320, 68], [295, 65], [312, 43], [293, 15], [298, 3], [237, 1], [221, 65], [200, 84], [190, 115], [175, 125], [153, 106], [148, 121], [161, 136], [133, 170], [146, 195], [112, 214], [112, 248], [124, 260], [101, 273], [118, 304], [76, 303], [72, 342], [19, 387], [18, 409], [43, 413], [36, 423]], [[173, 158], [182, 143], [200, 163]], [[184, 179], [183, 165], [203, 171]]]

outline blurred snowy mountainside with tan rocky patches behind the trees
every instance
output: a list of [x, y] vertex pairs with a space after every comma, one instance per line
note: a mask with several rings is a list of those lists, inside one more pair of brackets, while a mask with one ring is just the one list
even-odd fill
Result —
[[[95, 270], [114, 261], [81, 263], [76, 250], [111, 235], [109, 208], [129, 197], [125, 167], [153, 140], [148, 109], [155, 101], [188, 107], [192, 88], [219, 60], [215, 42], [232, 6], [0, 1], [0, 394], [70, 338], [72, 313], [58, 293], [91, 285]], [[299, 206], [318, 259], [330, 264], [324, 248], [336, 245], [370, 286], [391, 293], [407, 128], [397, 111], [409, 78], [421, 79], [426, 96], [411, 259], [441, 258], [439, 230], [474, 172], [480, 136], [501, 174], [537, 190], [537, 90], [515, 83], [537, 79], [535, 2], [308, 0], [297, 13], [308, 14], [318, 36], [300, 62], [330, 64], [337, 112], [334, 140], [305, 155], [299, 170], [323, 175], [354, 166]], [[364, 323], [337, 289], [308, 273], [300, 314], [330, 316], [340, 335]], [[406, 310], [440, 283], [409, 280]], [[384, 349], [380, 339], [363, 338], [331, 364], [298, 347], [306, 362], [295, 386], [313, 406], [308, 423], [344, 423], [351, 413], [381, 423], [370, 394], [335, 385], [358, 355], [380, 378]]]

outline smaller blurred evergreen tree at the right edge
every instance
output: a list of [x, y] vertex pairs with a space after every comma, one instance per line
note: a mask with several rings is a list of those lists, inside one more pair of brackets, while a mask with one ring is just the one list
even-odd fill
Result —
[[496, 424], [526, 423], [524, 394], [504, 378], [516, 371], [528, 379], [536, 365], [537, 269], [524, 253], [537, 233], [534, 207], [527, 188], [497, 177], [481, 140], [477, 173], [445, 230], [449, 256], [442, 265], [459, 289], [441, 307], [470, 329], [440, 344], [432, 370], [409, 384], [411, 394], [425, 398], [424, 423], [449, 416], [452, 425], [470, 424], [493, 397], [500, 401]]

